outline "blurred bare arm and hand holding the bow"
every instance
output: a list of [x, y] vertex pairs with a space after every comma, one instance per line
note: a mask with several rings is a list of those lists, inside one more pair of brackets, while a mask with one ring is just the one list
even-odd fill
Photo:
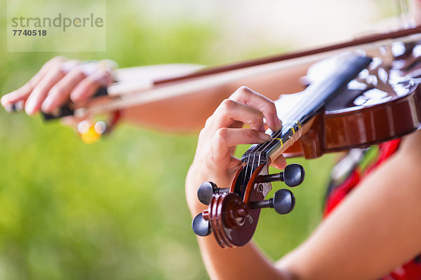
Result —
[[[192, 64], [164, 64], [112, 71], [110, 67], [103, 67], [100, 64], [81, 64], [77, 60], [55, 57], [44, 64], [39, 73], [36, 73], [24, 86], [4, 95], [1, 104], [7, 108], [15, 102], [23, 102], [25, 111], [29, 115], [41, 110], [51, 113], [69, 99], [76, 105], [83, 105], [99, 87], [109, 85], [112, 76], [119, 81], [154, 79], [191, 73], [198, 68], [198, 65]], [[300, 66], [287, 72], [278, 71], [247, 80], [239, 79], [201, 92], [124, 109], [123, 118], [136, 125], [161, 130], [197, 131], [203, 127], [206, 118], [218, 104], [240, 85], [253, 86], [262, 92], [267, 92], [269, 98], [277, 99], [281, 93], [302, 90], [298, 78], [306, 71], [307, 66]]]

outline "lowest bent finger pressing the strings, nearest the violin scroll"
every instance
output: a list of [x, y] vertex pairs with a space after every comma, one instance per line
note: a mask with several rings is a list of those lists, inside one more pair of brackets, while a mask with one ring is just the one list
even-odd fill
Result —
[[231, 148], [241, 144], [261, 144], [270, 140], [270, 135], [251, 128], [221, 127], [213, 134], [211, 155], [215, 162], [231, 158]]

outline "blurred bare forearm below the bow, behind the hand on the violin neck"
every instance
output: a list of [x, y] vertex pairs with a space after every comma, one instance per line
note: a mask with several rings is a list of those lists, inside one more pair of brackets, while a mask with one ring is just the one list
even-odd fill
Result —
[[299, 78], [304, 76], [308, 65], [275, 71], [253, 78], [239, 79], [225, 85], [218, 85], [178, 97], [162, 99], [159, 102], [134, 106], [124, 110], [130, 123], [176, 132], [197, 131], [203, 127], [206, 118], [241, 85], [247, 85], [275, 100], [280, 94], [299, 92], [303, 89]]

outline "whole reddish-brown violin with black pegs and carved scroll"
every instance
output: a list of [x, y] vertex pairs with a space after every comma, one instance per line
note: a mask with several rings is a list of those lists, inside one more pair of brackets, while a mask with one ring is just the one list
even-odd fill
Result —
[[290, 213], [295, 207], [290, 190], [277, 190], [273, 198], [266, 199], [274, 181], [289, 187], [304, 181], [305, 170], [297, 164], [288, 165], [279, 174], [268, 174], [270, 163], [281, 154], [316, 158], [419, 130], [421, 45], [397, 43], [380, 52], [393, 57], [351, 55], [321, 62], [322, 67], [316, 66], [313, 72], [320, 73], [330, 65], [323, 78], [313, 78], [303, 92], [276, 100], [282, 130], [267, 130], [272, 139], [243, 154], [229, 188], [218, 188], [212, 182], [199, 186], [198, 199], [208, 209], [192, 221], [196, 235], [213, 234], [222, 248], [243, 246], [253, 237], [260, 209]]

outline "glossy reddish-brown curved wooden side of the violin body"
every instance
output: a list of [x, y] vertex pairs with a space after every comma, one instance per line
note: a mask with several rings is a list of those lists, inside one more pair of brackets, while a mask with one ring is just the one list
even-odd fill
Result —
[[[408, 93], [387, 102], [355, 106], [361, 90], [345, 90], [335, 97], [285, 155], [317, 158], [323, 153], [365, 148], [403, 137], [421, 127], [421, 85], [409, 85]], [[348, 98], [347, 98], [348, 97]]]

